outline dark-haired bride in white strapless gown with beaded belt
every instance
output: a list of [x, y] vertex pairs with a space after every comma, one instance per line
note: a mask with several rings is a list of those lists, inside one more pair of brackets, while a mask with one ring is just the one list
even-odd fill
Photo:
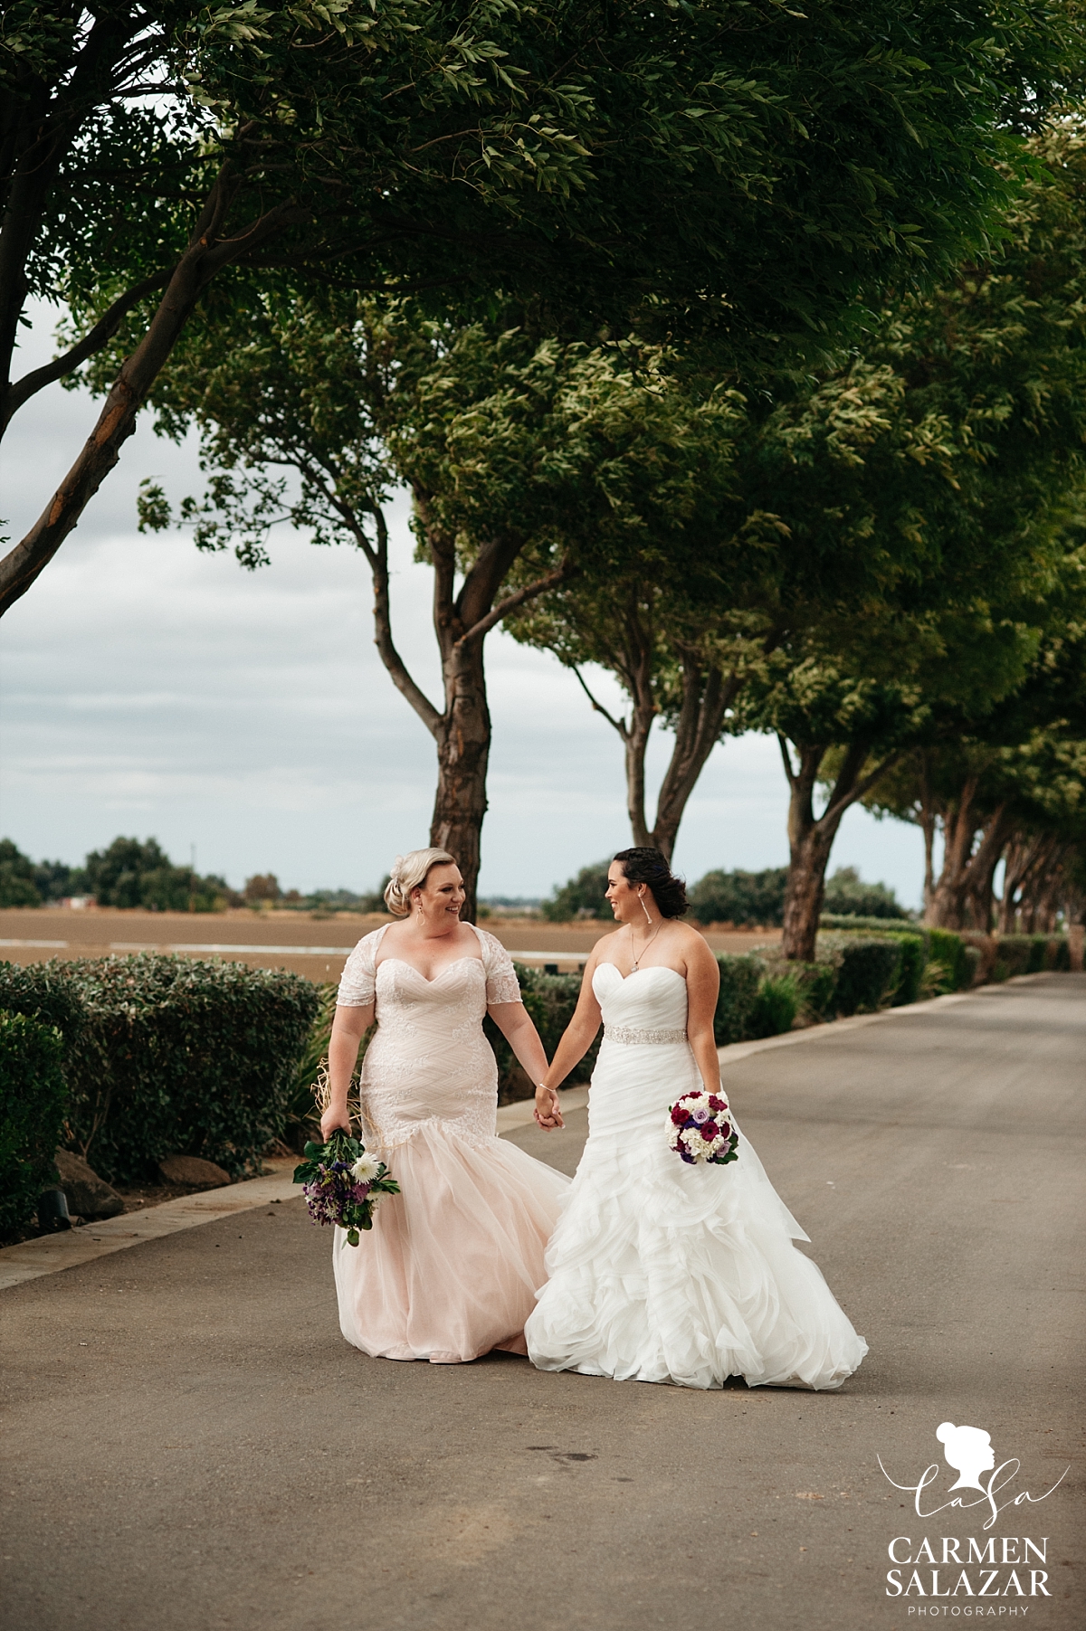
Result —
[[690, 1166], [669, 1148], [669, 1106], [703, 1086], [722, 1091], [719, 969], [678, 922], [683, 886], [659, 850], [623, 850], [607, 899], [623, 926], [592, 951], [536, 1094], [550, 1109], [546, 1090], [584, 1057], [602, 1019], [589, 1142], [525, 1328], [528, 1357], [540, 1370], [616, 1381], [840, 1388], [867, 1344], [792, 1244], [807, 1236], [750, 1143], [740, 1134], [727, 1166]]

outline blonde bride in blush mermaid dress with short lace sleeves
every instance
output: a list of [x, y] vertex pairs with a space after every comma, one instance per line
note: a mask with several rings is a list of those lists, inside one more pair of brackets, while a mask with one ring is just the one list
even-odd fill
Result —
[[[460, 922], [463, 900], [445, 850], [396, 856], [385, 902], [403, 922], [365, 935], [347, 957], [321, 1117], [324, 1138], [351, 1129], [351, 1073], [377, 1019], [362, 1063], [362, 1140], [401, 1194], [382, 1200], [357, 1246], [334, 1231], [339, 1326], [364, 1354], [442, 1365], [494, 1347], [527, 1352], [523, 1323], [569, 1187], [497, 1137], [497, 1063], [483, 1016], [536, 1083], [546, 1055], [509, 953]], [[540, 1088], [535, 1114], [561, 1127], [558, 1094]]]

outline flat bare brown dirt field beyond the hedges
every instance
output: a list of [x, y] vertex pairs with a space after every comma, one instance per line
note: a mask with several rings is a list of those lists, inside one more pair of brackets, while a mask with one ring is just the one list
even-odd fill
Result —
[[[386, 923], [385, 917], [338, 912], [121, 912], [21, 907], [0, 912], [0, 957], [42, 962], [47, 957], [106, 957], [126, 951], [178, 951], [183, 956], [232, 957], [254, 969], [290, 969], [311, 980], [338, 980], [352, 946]], [[484, 926], [525, 962], [576, 969], [605, 923], [564, 925], [540, 918], [488, 918]], [[781, 938], [779, 930], [709, 930], [714, 951], [748, 951]]]

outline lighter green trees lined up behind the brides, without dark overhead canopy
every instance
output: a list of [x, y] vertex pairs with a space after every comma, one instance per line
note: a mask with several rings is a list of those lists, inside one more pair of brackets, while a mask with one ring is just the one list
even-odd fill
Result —
[[[365, 555], [378, 649], [437, 742], [432, 842], [471, 884], [499, 621], [620, 734], [636, 843], [672, 853], [721, 736], [776, 732], [784, 939], [809, 959], [840, 822], [895, 767], [1079, 731], [1086, 145], [1065, 126], [1031, 148], [998, 256], [905, 290], [833, 365], [765, 375], [760, 395], [693, 346], [541, 339], [523, 305], [466, 326], [357, 295], [235, 307], [157, 393], [163, 429], [204, 434], [209, 491], [181, 515], [249, 566], [282, 517]], [[401, 480], [434, 568], [442, 706], [393, 639], [383, 504]], [[148, 488], [143, 524], [170, 520]], [[592, 665], [628, 714], [594, 696]], [[673, 747], [649, 820], [657, 721]], [[946, 891], [929, 917], [964, 922]]]

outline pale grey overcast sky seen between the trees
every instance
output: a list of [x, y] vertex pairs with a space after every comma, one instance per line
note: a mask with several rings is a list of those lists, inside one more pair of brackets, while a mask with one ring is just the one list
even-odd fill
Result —
[[[18, 373], [51, 356], [38, 323]], [[13, 538], [42, 511], [95, 421], [83, 391], [51, 387], [0, 444], [0, 515]], [[398, 850], [427, 843], [434, 744], [372, 644], [370, 584], [354, 550], [318, 550], [284, 528], [272, 566], [204, 556], [188, 535], [140, 537], [143, 476], [176, 501], [196, 493], [192, 447], [126, 444], [75, 533], [3, 618], [0, 833], [34, 860], [82, 861], [117, 833], [157, 837], [235, 887], [274, 871], [284, 887], [372, 887]], [[393, 621], [434, 701], [429, 572], [395, 514]], [[509, 636], [488, 639], [494, 744], [483, 830], [483, 894], [538, 895], [629, 843], [621, 744], [576, 678]], [[621, 696], [605, 675], [611, 711]], [[649, 754], [651, 785], [669, 737]], [[776, 742], [717, 747], [678, 835], [675, 864], [788, 860]], [[915, 829], [851, 811], [830, 869], [858, 866], [916, 905]]]

